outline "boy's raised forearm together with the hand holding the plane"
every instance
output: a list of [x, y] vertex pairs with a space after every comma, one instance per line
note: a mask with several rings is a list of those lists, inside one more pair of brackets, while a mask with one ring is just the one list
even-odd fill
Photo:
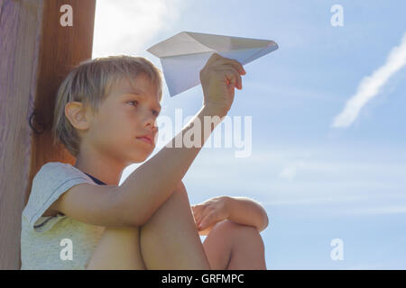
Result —
[[[201, 147], [208, 139], [217, 124], [226, 116], [234, 101], [235, 87], [242, 89], [241, 75], [245, 69], [235, 59], [223, 58], [217, 53], [208, 58], [205, 67], [200, 70], [199, 77], [203, 89], [203, 106], [198, 114], [189, 121], [180, 133], [171, 140], [171, 147], [164, 147], [154, 157], [136, 169], [120, 186], [120, 196], [128, 203], [124, 212], [125, 218], [136, 219], [135, 224], [143, 225], [152, 214], [165, 202], [173, 190], [180, 184], [189, 166], [198, 155]], [[205, 121], [205, 116], [217, 116], [217, 121]], [[194, 127], [195, 125], [197, 126]], [[198, 147], [177, 148], [176, 139], [192, 130], [198, 130], [195, 142]], [[186, 139], [188, 139], [187, 137]], [[134, 193], [136, 187], [136, 193]], [[134, 211], [137, 216], [134, 217]]]

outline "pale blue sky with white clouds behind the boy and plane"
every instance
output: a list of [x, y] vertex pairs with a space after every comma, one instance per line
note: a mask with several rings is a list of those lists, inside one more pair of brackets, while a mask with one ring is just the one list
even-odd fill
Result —
[[[261, 202], [269, 270], [405, 269], [405, 11], [400, 0], [97, 0], [93, 58], [141, 56], [161, 69], [146, 49], [180, 31], [274, 40], [279, 49], [245, 65], [228, 112], [252, 117], [250, 155], [205, 144], [183, 178], [190, 203]], [[200, 109], [201, 85], [163, 89], [162, 116]]]

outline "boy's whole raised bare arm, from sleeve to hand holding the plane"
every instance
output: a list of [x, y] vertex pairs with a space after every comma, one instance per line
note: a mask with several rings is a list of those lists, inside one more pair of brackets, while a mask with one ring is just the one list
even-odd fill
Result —
[[[101, 226], [142, 226], [183, 184], [181, 179], [189, 166], [230, 109], [235, 86], [242, 88], [240, 74], [245, 74], [245, 71], [239, 62], [214, 53], [200, 70], [203, 106], [189, 124], [171, 139], [170, 145], [167, 144], [134, 170], [120, 186], [100, 188], [98, 185], [78, 184], [69, 193], [62, 194], [51, 209]], [[205, 121], [205, 116], [215, 115], [221, 118], [217, 116], [214, 121]], [[197, 137], [192, 139], [197, 145], [185, 146], [182, 141], [185, 134]]]

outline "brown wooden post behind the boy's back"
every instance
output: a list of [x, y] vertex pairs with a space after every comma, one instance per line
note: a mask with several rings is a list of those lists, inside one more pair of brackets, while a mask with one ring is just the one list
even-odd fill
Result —
[[[69, 4], [72, 26], [60, 12]], [[0, 269], [19, 269], [21, 214], [32, 178], [50, 161], [75, 163], [51, 139], [55, 96], [91, 58], [96, 0], [0, 0]]]

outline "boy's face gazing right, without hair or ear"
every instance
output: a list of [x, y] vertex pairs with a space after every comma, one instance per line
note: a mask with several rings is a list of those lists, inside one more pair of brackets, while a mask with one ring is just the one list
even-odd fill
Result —
[[[115, 85], [92, 120], [87, 142], [97, 153], [125, 165], [143, 162], [155, 148], [156, 119], [161, 112], [157, 87], [143, 74], [134, 87], [127, 79]], [[137, 139], [148, 135], [152, 143]]]

